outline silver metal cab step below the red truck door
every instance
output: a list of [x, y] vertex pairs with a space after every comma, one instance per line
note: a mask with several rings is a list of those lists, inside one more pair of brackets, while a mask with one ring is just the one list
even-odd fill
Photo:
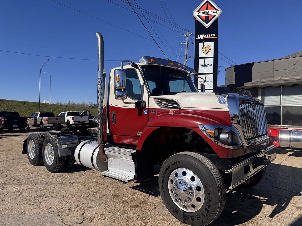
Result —
[[136, 151], [121, 147], [108, 147], [104, 150], [108, 156], [108, 170], [102, 172], [102, 175], [125, 182], [133, 180], [135, 169], [132, 155]]

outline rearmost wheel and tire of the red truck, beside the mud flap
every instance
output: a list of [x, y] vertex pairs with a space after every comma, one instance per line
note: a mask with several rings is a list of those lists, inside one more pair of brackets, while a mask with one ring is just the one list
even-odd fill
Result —
[[43, 137], [39, 133], [31, 133], [27, 138], [27, 158], [29, 163], [34, 166], [43, 163], [42, 158]]

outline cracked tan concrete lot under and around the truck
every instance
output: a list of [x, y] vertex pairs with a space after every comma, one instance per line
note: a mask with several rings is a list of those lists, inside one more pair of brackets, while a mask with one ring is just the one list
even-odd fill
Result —
[[[185, 225], [162, 203], [158, 177], [124, 184], [78, 164], [55, 174], [32, 166], [21, 154], [30, 132], [0, 135], [2, 225]], [[277, 151], [259, 185], [227, 192], [213, 226], [302, 225], [302, 151]]]

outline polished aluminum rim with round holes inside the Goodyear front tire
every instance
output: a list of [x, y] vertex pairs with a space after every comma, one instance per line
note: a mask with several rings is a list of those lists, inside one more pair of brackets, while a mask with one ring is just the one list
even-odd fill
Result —
[[173, 202], [186, 212], [195, 212], [204, 203], [204, 187], [189, 169], [175, 169], [169, 177], [168, 187]]

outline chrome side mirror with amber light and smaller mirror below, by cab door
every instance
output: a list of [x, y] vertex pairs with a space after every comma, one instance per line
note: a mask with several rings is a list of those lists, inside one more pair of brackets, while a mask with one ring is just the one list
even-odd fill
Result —
[[126, 71], [123, 69], [114, 70], [115, 99], [121, 100], [127, 98], [126, 91]]

